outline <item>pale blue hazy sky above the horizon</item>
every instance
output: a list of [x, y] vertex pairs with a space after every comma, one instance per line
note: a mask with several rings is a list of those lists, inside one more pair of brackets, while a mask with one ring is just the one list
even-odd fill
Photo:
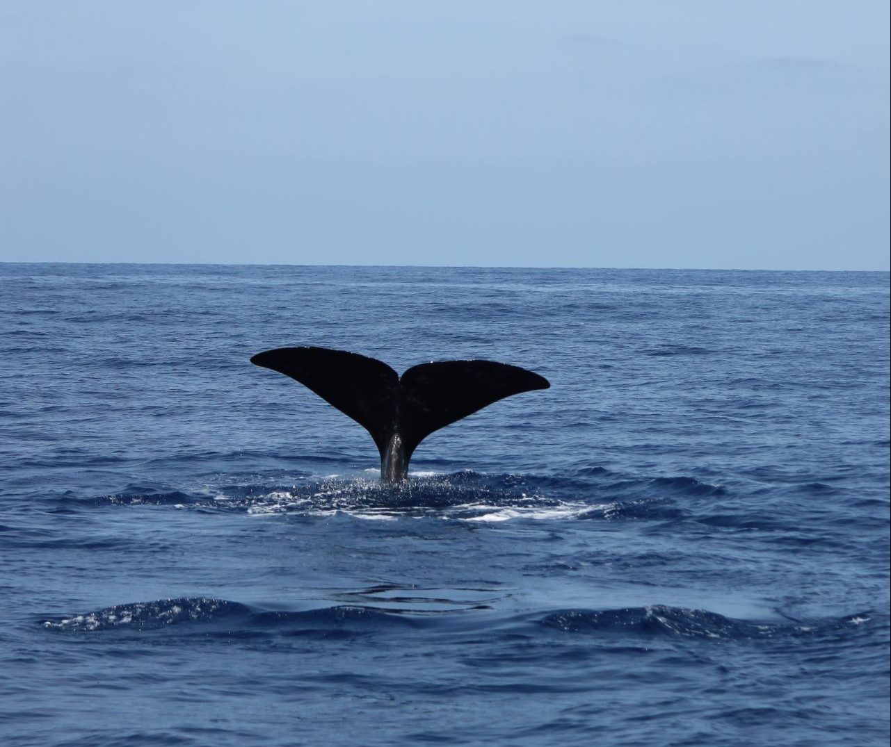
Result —
[[888, 268], [887, 0], [0, 20], [0, 261]]

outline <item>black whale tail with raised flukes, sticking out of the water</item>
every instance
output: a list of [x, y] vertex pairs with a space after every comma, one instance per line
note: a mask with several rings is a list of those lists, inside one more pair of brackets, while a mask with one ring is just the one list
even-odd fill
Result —
[[279, 347], [250, 362], [296, 379], [363, 426], [388, 483], [405, 479], [413, 451], [439, 428], [511, 394], [551, 386], [532, 371], [494, 361], [421, 363], [400, 377], [374, 358], [325, 347]]

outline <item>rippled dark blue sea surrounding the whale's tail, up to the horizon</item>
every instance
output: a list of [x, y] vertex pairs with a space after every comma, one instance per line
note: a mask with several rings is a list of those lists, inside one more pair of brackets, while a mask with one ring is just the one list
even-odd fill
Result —
[[[0, 264], [5, 745], [888, 736], [888, 275]], [[549, 378], [381, 486], [251, 366]]]

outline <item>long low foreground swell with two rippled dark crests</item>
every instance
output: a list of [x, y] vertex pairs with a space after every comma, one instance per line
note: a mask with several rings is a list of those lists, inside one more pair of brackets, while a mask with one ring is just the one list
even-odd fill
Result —
[[[373, 595], [374, 589], [365, 594]], [[396, 597], [399, 599], [401, 597]], [[405, 601], [405, 599], [403, 599]], [[441, 601], [441, 600], [440, 600]], [[486, 605], [478, 605], [487, 609]], [[701, 640], [756, 641], [786, 637], [838, 636], [845, 631], [882, 624], [882, 615], [870, 611], [820, 621], [748, 621], [707, 610], [667, 605], [621, 609], [564, 609], [514, 616], [470, 614], [474, 608], [437, 615], [405, 608], [374, 605], [331, 605], [303, 611], [263, 610], [226, 599], [179, 597], [104, 607], [91, 613], [42, 618], [49, 630], [148, 632], [176, 627], [200, 635], [287, 635], [335, 637], [386, 633], [391, 630], [427, 629], [437, 632], [517, 634], [540, 637], [557, 630], [570, 635], [622, 638], [695, 638]], [[885, 621], [887, 627], [887, 621]]]

